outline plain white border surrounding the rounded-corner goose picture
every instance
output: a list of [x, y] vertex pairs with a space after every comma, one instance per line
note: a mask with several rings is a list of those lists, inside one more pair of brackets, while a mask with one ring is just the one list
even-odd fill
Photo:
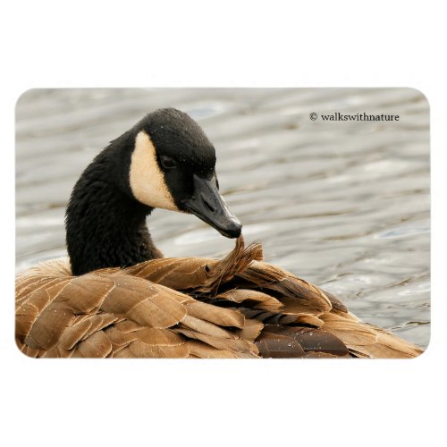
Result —
[[[2, 408], [25, 445], [444, 439], [445, 42], [416, 2], [17, 2], [2, 12]], [[292, 7], [296, 5], [296, 7]], [[431, 105], [432, 341], [410, 361], [33, 361], [13, 346], [13, 107], [32, 87], [414, 87]], [[437, 409], [436, 403], [441, 403]]]

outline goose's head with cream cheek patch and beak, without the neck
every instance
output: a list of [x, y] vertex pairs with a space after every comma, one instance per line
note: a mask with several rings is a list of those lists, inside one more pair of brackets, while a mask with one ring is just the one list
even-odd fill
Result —
[[173, 108], [148, 114], [136, 127], [130, 185], [149, 207], [197, 215], [224, 236], [240, 236], [239, 220], [218, 192], [215, 148], [198, 123]]

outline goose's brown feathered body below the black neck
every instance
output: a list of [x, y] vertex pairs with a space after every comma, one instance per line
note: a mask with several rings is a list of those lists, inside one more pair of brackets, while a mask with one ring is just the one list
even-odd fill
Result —
[[416, 357], [341, 301], [240, 238], [221, 261], [155, 259], [72, 276], [66, 260], [16, 278], [16, 340], [30, 357]]

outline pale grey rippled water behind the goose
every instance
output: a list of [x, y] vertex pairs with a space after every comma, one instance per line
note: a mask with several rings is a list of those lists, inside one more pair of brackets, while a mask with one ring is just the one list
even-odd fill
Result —
[[[41, 89], [17, 105], [17, 270], [65, 256], [74, 182], [143, 114], [175, 106], [214, 142], [221, 190], [266, 261], [324, 286], [367, 322], [426, 347], [429, 112], [413, 89]], [[323, 122], [309, 114], [399, 114]], [[233, 241], [156, 210], [165, 256], [221, 257]]]

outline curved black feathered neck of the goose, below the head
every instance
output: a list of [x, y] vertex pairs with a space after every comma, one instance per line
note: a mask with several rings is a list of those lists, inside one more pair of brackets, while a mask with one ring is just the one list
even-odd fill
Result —
[[[116, 163], [116, 157], [122, 163]], [[125, 153], [105, 149], [72, 190], [65, 216], [72, 274], [134, 266], [162, 256], [146, 225], [153, 208], [140, 204], [123, 187], [127, 182], [122, 176], [129, 175], [128, 161]]]

